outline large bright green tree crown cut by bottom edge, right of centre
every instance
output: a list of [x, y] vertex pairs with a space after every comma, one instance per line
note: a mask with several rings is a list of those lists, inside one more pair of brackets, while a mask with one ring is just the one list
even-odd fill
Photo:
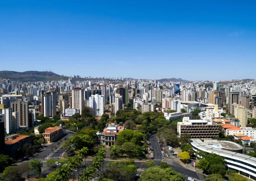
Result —
[[152, 166], [144, 170], [139, 181], [184, 181], [183, 175], [168, 167], [162, 169], [159, 166]]

